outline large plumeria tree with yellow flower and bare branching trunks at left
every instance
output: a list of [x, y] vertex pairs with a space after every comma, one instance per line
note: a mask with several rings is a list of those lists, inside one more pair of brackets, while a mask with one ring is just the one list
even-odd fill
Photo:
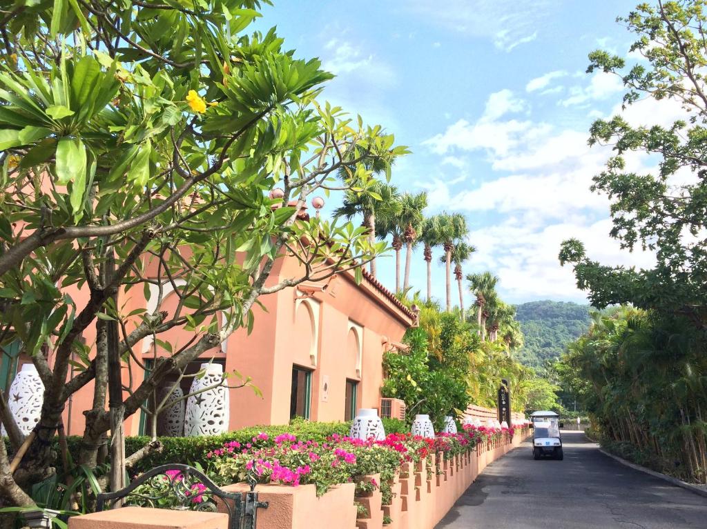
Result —
[[[246, 35], [259, 4], [4, 7], [0, 340], [19, 340], [45, 385], [28, 438], [3, 414], [13, 451], [26, 449], [13, 472], [0, 443], [4, 504], [31, 506], [30, 485], [55, 472], [52, 439], [76, 391], [93, 384], [79, 462], [95, 466], [107, 432], [165, 377], [252, 327], [260, 296], [360, 276], [385, 247], [363, 227], [308, 218], [305, 205], [317, 192], [365, 196], [373, 172], [407, 150], [320, 103], [332, 78], [320, 61], [296, 58], [274, 30]], [[269, 281], [285, 255], [300, 271]], [[129, 311], [132, 292], [149, 309]], [[84, 345], [90, 326], [97, 339]], [[193, 338], [170, 343], [175, 328]], [[161, 352], [134, 376], [133, 347], [147, 337]]]

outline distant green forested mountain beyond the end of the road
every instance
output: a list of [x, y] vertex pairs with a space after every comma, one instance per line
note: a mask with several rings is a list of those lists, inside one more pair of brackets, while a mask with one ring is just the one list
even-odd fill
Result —
[[517, 359], [535, 368], [557, 359], [567, 343], [589, 328], [589, 309], [589, 305], [547, 299], [517, 305], [516, 319], [525, 338]]

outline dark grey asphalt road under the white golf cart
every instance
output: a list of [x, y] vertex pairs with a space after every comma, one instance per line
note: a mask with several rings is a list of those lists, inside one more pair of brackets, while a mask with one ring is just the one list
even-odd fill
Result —
[[707, 498], [604, 456], [562, 432], [563, 461], [532, 458], [530, 441], [492, 463], [437, 529], [707, 529]]

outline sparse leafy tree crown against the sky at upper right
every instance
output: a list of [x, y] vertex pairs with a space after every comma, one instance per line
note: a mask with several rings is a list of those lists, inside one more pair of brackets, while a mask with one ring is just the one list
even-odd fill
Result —
[[[631, 303], [683, 314], [703, 328], [707, 322], [707, 64], [705, 3], [662, 1], [640, 4], [619, 18], [636, 35], [630, 51], [643, 60], [602, 50], [590, 54], [588, 73], [621, 78], [624, 106], [643, 98], [678, 102], [684, 119], [671, 126], [634, 126], [621, 115], [597, 119], [590, 145], [612, 145], [614, 155], [594, 177], [592, 189], [611, 202], [611, 237], [625, 249], [655, 252], [654, 268], [605, 266], [586, 255], [577, 239], [563, 243], [561, 263], [570, 263], [577, 285], [592, 305]], [[626, 170], [628, 153], [658, 159], [652, 172]]]

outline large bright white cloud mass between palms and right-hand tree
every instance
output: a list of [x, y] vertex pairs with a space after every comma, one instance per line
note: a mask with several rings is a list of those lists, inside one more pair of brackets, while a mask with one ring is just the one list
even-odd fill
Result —
[[[617, 91], [603, 82], [592, 78], [583, 89], [587, 101]], [[468, 212], [470, 219], [479, 219], [484, 226], [469, 236], [478, 250], [469, 267], [493, 270], [501, 278], [504, 299], [520, 302], [539, 297], [585, 299], [575, 287], [571, 268], [560, 267], [557, 260], [561, 242], [570, 237], [583, 241], [588, 256], [607, 266], [653, 266], [655, 258], [650, 252], [631, 253], [609, 237], [609, 200], [589, 189], [592, 177], [612, 155], [611, 147], [590, 148], [584, 127], [560, 129], [530, 118], [514, 119], [508, 114], [525, 109], [522, 102], [510, 103], [514, 100], [508, 91], [496, 93], [477, 121], [460, 119], [426, 142], [443, 160], [462, 156], [472, 160], [470, 153], [481, 151], [492, 170], [507, 172], [467, 189], [455, 188], [444, 179], [426, 186], [433, 196], [431, 205]], [[677, 103], [650, 99], [625, 110], [618, 103], [609, 114], [595, 109], [590, 114], [623, 114], [633, 126], [669, 126], [674, 119], [685, 117]], [[645, 153], [626, 155], [626, 169], [631, 172], [655, 171], [655, 162], [655, 157]], [[694, 174], [686, 171], [671, 183], [691, 179]]]

